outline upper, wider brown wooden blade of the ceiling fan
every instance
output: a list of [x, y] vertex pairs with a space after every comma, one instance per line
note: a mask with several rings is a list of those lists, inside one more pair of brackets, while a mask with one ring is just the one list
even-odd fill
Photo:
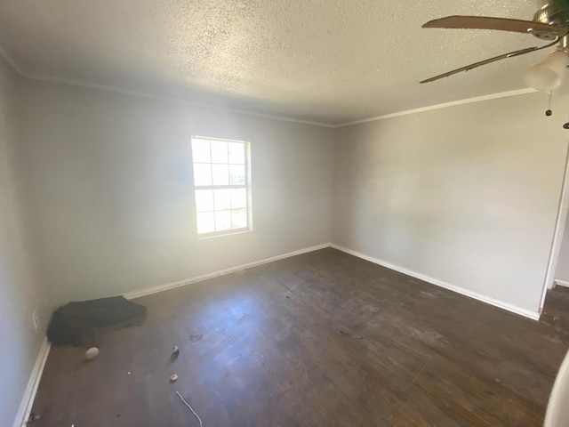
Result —
[[491, 18], [487, 16], [461, 16], [453, 15], [429, 20], [423, 28], [473, 28], [473, 29], [499, 29], [501, 31], [514, 31], [516, 33], [546, 32], [552, 36], [565, 36], [566, 28], [557, 27], [533, 20], [510, 20], [508, 18]]

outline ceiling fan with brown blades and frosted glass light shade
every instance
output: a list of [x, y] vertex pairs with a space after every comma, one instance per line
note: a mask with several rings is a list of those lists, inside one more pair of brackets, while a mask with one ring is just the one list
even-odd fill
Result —
[[421, 83], [429, 83], [439, 78], [453, 76], [453, 74], [490, 64], [496, 60], [505, 60], [546, 49], [558, 44], [555, 52], [549, 54], [545, 60], [530, 68], [525, 73], [525, 83], [534, 89], [551, 92], [561, 84], [565, 69], [569, 65], [569, 0], [554, 0], [545, 4], [535, 12], [533, 20], [511, 20], [507, 18], [490, 18], [485, 16], [447, 16], [437, 20], [429, 20], [423, 28], [475, 28], [513, 31], [516, 33], [531, 34], [549, 43], [541, 46], [526, 47], [514, 52], [504, 53], [487, 60], [480, 60], [465, 67], [430, 77]]

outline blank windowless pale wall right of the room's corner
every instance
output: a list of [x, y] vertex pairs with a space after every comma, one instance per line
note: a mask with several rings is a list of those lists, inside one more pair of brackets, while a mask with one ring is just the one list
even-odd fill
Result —
[[531, 93], [341, 128], [333, 242], [536, 312], [567, 103], [548, 118]]

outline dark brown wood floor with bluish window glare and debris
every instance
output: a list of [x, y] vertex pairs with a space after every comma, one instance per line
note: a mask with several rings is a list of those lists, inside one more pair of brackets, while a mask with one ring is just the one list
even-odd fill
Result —
[[197, 426], [180, 391], [206, 427], [538, 426], [569, 347], [333, 249], [137, 302], [146, 323], [106, 334], [99, 358], [52, 349], [30, 425]]

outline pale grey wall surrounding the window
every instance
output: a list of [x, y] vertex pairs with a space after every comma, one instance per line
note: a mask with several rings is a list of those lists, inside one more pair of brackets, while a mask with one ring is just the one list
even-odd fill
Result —
[[[328, 243], [333, 130], [29, 81], [28, 173], [53, 302]], [[253, 231], [197, 239], [190, 136], [251, 141]]]

